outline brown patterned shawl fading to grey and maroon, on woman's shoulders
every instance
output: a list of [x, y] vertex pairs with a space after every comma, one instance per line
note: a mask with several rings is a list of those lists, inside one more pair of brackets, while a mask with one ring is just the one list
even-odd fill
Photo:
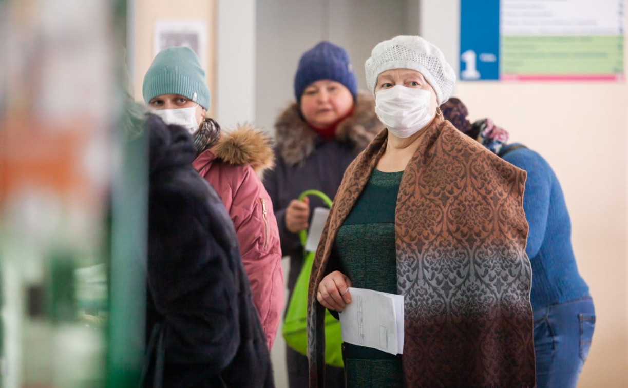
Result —
[[[310, 387], [323, 385], [323, 306], [315, 290], [338, 229], [386, 149], [382, 131], [347, 168], [308, 292]], [[405, 295], [406, 387], [533, 387], [531, 267], [519, 170], [441, 114], [408, 163], [395, 214]]]

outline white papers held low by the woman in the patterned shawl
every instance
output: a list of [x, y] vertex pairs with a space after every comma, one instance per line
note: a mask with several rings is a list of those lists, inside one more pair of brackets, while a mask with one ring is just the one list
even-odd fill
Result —
[[391, 354], [403, 353], [403, 295], [349, 288], [351, 303], [340, 313], [342, 340]]

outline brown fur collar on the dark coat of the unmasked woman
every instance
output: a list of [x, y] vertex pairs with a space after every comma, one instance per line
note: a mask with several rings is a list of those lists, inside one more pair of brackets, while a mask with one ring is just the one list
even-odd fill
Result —
[[[375, 114], [375, 99], [371, 93], [360, 90], [354, 113], [338, 124], [336, 139], [350, 143], [361, 151], [384, 125]], [[293, 102], [275, 122], [275, 139], [279, 155], [288, 166], [303, 162], [314, 151], [318, 134], [303, 120], [299, 106]]]

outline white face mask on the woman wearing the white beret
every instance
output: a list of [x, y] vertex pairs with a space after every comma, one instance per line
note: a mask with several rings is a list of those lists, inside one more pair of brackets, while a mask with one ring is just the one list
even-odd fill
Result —
[[406, 138], [425, 127], [430, 114], [431, 93], [427, 90], [396, 85], [375, 94], [375, 113], [394, 136]]

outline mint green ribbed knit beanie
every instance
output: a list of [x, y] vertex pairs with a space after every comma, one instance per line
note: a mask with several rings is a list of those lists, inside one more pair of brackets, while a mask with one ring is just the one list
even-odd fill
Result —
[[209, 88], [200, 60], [189, 47], [168, 47], [154, 58], [144, 76], [144, 102], [162, 94], [178, 94], [209, 109]]

